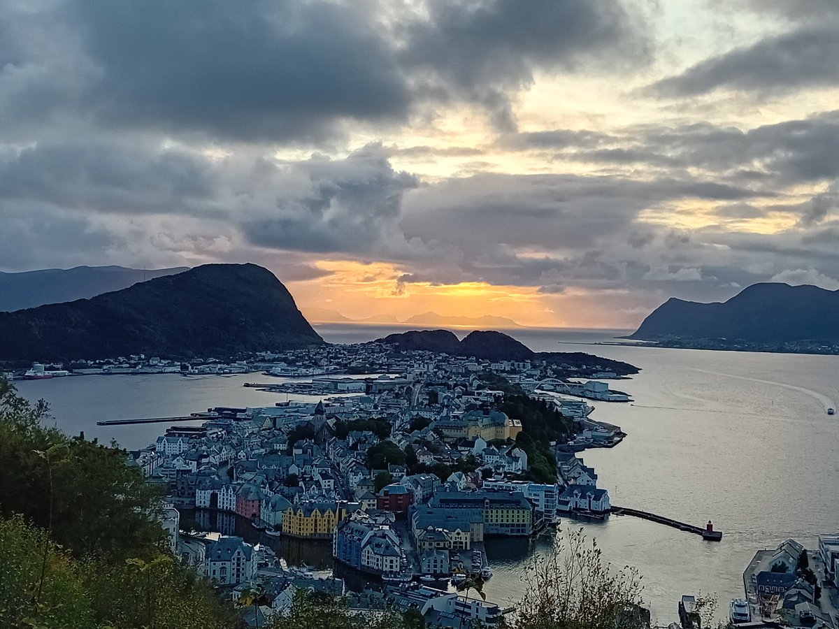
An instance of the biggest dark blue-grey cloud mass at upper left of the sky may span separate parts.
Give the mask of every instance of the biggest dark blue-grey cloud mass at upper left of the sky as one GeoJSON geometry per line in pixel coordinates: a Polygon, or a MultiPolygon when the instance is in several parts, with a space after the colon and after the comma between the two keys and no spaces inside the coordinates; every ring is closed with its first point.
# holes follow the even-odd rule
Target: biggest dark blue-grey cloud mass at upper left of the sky
{"type": "Polygon", "coordinates": [[[71,8],[117,125],[221,138],[321,138],[343,117],[405,116],[409,91],[361,4],[126,0],[71,8]]]}

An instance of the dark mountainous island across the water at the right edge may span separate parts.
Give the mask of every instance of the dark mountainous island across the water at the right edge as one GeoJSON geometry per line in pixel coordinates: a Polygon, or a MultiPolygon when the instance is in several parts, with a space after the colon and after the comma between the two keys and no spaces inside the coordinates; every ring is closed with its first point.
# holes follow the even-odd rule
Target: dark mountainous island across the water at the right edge
{"type": "Polygon", "coordinates": [[[757,283],[723,303],[670,298],[632,335],[659,346],[839,353],[839,291],[757,283]]]}

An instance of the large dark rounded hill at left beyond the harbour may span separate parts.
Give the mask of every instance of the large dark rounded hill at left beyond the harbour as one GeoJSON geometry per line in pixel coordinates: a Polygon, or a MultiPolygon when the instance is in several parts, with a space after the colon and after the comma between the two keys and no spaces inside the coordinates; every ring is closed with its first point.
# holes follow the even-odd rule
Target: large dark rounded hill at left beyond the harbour
{"type": "Polygon", "coordinates": [[[0,313],[0,360],[223,356],[320,345],[289,291],[255,264],[207,264],[67,304],[0,313]]]}

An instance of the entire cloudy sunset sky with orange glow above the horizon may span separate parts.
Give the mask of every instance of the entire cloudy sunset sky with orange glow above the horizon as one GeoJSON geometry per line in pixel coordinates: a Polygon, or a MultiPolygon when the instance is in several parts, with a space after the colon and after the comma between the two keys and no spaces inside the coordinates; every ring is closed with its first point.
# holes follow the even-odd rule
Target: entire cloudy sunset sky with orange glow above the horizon
{"type": "Polygon", "coordinates": [[[0,270],[633,328],[839,289],[835,0],[0,0],[0,270]]]}

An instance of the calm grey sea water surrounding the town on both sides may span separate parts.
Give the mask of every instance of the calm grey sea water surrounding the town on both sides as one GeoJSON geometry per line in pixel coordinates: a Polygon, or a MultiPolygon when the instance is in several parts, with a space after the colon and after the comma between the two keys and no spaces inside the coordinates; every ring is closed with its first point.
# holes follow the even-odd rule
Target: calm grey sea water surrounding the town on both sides
{"type": "MultiPolygon", "coordinates": [[[[330,342],[360,342],[399,331],[393,326],[323,325],[330,342]]],[[[676,618],[682,594],[716,592],[720,616],[743,595],[743,569],[755,551],[785,538],[816,545],[839,528],[839,356],[655,349],[597,345],[627,330],[506,330],[537,351],[586,351],[642,368],[618,388],[632,404],[595,403],[593,418],[618,424],[627,439],[612,450],[584,452],[612,502],[724,532],[708,543],[632,517],[584,526],[613,565],[643,575],[654,618],[676,618]]],[[[457,332],[460,335],[460,332],[457,332]]],[[[464,332],[465,334],[465,332],[464,332]]],[[[71,377],[18,382],[27,398],[45,398],[69,434],[117,439],[136,448],[167,424],[103,428],[96,420],[188,414],[211,406],[260,406],[284,396],[242,387],[255,374],[181,377],[71,377]]],[[[494,576],[487,598],[518,600],[528,544],[487,543],[494,576]]]]}

